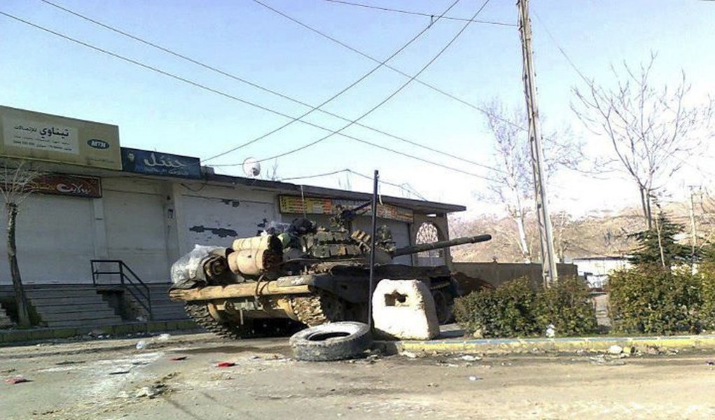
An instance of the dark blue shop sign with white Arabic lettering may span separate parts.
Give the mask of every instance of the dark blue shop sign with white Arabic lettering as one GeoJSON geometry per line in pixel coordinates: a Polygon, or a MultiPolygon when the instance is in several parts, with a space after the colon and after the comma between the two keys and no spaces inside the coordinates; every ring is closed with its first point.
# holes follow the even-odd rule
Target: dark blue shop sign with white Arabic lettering
{"type": "Polygon", "coordinates": [[[122,171],[200,179],[201,160],[159,151],[122,147],[122,171]]]}

